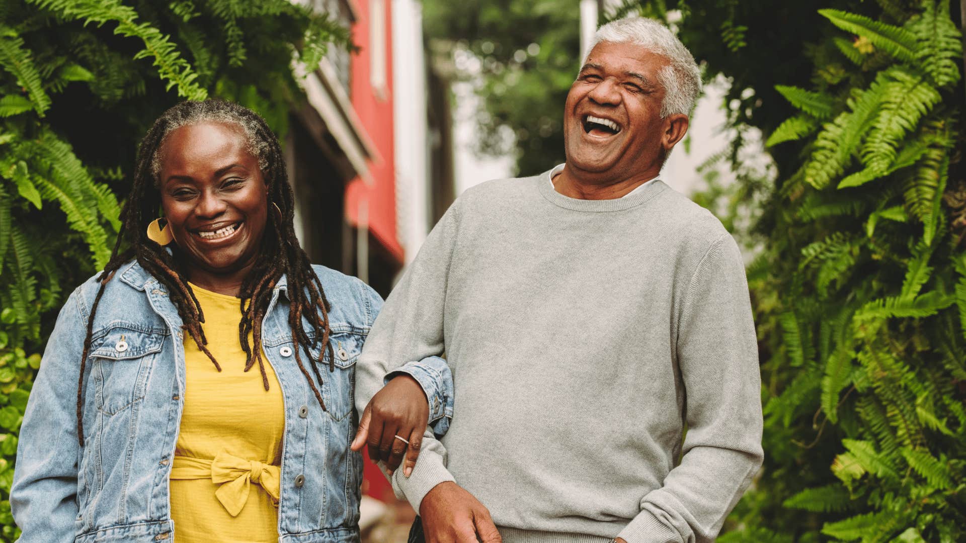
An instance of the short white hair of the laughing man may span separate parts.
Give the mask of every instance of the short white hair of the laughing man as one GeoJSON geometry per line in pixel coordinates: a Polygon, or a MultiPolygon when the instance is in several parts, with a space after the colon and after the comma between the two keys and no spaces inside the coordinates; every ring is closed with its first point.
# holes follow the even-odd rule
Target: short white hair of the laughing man
{"type": "Polygon", "coordinates": [[[670,64],[658,73],[658,81],[665,88],[661,102],[661,117],[675,113],[691,115],[697,94],[701,92],[701,71],[697,69],[691,51],[660,22],[631,16],[611,21],[597,29],[583,62],[587,62],[594,45],[601,42],[634,43],[653,53],[667,57],[670,64]]]}

